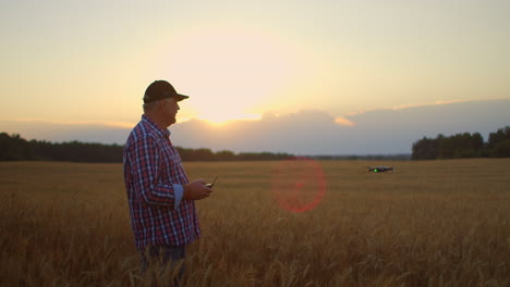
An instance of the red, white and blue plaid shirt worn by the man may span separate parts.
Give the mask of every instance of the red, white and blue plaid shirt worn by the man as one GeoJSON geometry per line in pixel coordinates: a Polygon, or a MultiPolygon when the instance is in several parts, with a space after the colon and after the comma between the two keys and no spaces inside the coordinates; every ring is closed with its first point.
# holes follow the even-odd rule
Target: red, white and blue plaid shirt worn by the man
{"type": "Polygon", "coordinates": [[[124,182],[136,247],[183,246],[201,237],[193,200],[182,199],[189,183],[181,157],[147,116],[133,128],[124,146],[124,182]]]}

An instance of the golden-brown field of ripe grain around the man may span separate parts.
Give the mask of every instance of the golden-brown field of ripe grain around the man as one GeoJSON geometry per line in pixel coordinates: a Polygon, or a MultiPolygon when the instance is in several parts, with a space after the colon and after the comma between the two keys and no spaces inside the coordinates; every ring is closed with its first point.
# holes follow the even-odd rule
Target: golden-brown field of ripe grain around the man
{"type": "MultiPolygon", "coordinates": [[[[326,192],[301,213],[275,200],[278,164],[185,163],[190,178],[219,177],[197,202],[183,286],[510,285],[510,160],[319,162],[326,192]]],[[[163,286],[171,271],[139,274],[122,176],[0,163],[0,285],[163,286]]]]}

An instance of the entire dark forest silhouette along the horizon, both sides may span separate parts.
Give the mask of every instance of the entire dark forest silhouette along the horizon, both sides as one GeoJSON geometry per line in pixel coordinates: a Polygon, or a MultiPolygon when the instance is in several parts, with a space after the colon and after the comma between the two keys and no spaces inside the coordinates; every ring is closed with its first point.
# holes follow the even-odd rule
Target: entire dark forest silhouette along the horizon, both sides
{"type": "MultiPolygon", "coordinates": [[[[277,161],[293,158],[290,153],[241,152],[230,150],[214,152],[207,148],[175,147],[183,161],[277,161]]],[[[26,140],[19,134],[0,133],[0,161],[69,161],[122,162],[123,146],[94,142],[50,142],[26,140]]],[[[510,158],[510,126],[490,133],[485,142],[479,133],[461,133],[453,136],[439,134],[424,137],[412,146],[412,154],[393,155],[319,155],[319,160],[436,160],[467,158],[510,158]]]]}

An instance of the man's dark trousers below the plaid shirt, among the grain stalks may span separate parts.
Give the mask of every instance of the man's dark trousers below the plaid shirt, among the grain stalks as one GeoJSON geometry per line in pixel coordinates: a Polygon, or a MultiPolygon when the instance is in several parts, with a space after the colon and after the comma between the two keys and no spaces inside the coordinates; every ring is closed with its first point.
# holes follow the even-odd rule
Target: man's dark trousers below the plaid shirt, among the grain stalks
{"type": "MultiPolygon", "coordinates": [[[[145,252],[142,253],[142,273],[153,266],[162,267],[163,270],[169,267],[173,273],[179,261],[183,260],[185,254],[185,246],[148,246],[145,252]]],[[[170,286],[179,286],[179,280],[183,275],[184,264],[181,264],[178,276],[170,282],[170,286]]]]}

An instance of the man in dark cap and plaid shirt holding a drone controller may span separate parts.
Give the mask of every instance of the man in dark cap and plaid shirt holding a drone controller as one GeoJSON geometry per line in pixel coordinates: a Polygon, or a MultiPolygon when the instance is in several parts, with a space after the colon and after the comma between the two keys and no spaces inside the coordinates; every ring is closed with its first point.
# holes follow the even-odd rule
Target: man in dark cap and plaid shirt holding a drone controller
{"type": "Polygon", "coordinates": [[[194,200],[212,192],[204,179],[187,179],[169,138],[167,128],[177,121],[179,101],[187,98],[166,80],[150,84],[144,96],[142,120],[124,147],[131,225],[144,271],[155,262],[173,266],[184,259],[185,246],[201,237],[194,200]]]}

